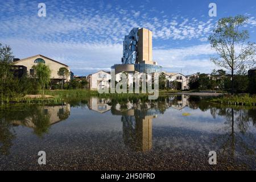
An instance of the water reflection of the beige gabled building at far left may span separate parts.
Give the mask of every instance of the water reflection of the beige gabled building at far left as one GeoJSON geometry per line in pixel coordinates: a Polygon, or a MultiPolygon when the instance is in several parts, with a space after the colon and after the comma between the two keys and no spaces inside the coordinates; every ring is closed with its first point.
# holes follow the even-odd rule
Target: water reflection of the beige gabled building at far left
{"type": "Polygon", "coordinates": [[[35,115],[40,114],[48,115],[48,123],[49,125],[54,125],[57,122],[63,121],[67,119],[70,114],[70,105],[59,105],[59,106],[38,106],[38,113],[34,113],[32,116],[26,117],[23,121],[14,120],[13,125],[23,125],[26,127],[35,128],[35,115]]]}

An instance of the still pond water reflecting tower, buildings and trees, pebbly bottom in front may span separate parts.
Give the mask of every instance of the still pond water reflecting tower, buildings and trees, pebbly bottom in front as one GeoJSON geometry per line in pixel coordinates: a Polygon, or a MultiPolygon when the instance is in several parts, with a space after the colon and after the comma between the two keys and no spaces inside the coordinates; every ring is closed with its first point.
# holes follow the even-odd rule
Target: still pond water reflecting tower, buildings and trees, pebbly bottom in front
{"type": "Polygon", "coordinates": [[[1,170],[255,170],[255,142],[255,107],[195,96],[0,107],[1,170]]]}

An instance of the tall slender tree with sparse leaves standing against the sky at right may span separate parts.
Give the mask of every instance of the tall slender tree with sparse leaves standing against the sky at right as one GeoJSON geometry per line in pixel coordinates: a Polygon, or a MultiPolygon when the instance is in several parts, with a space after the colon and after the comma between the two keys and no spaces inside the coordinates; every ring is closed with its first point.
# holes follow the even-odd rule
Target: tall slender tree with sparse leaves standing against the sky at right
{"type": "Polygon", "coordinates": [[[243,15],[221,18],[208,38],[219,56],[211,58],[213,63],[231,72],[232,94],[234,93],[234,73],[241,73],[255,63],[256,47],[254,43],[247,41],[249,32],[244,29],[247,20],[248,18],[243,15]]]}

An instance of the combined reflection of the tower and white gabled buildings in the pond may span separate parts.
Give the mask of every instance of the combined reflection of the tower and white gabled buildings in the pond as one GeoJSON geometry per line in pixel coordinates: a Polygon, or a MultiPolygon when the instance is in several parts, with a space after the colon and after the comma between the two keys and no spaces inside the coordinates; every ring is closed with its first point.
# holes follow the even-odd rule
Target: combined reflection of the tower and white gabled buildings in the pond
{"type": "Polygon", "coordinates": [[[188,98],[189,96],[184,95],[166,97],[163,101],[155,103],[154,107],[152,106],[154,103],[151,101],[139,101],[137,104],[127,101],[110,106],[110,99],[91,97],[88,107],[99,113],[111,110],[113,115],[122,115],[125,145],[134,151],[148,151],[152,148],[152,119],[161,113],[161,109],[172,107],[181,110],[189,106],[188,98]]]}

